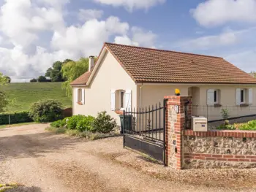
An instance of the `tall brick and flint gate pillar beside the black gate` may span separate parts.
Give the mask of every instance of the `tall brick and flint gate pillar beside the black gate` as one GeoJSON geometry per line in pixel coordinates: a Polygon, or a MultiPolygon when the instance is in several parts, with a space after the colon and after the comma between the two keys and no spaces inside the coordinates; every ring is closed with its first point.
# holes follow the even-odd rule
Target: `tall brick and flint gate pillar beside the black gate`
{"type": "Polygon", "coordinates": [[[165,163],[174,169],[182,169],[182,130],[185,129],[185,106],[187,128],[192,114],[191,96],[165,96],[165,163]]]}

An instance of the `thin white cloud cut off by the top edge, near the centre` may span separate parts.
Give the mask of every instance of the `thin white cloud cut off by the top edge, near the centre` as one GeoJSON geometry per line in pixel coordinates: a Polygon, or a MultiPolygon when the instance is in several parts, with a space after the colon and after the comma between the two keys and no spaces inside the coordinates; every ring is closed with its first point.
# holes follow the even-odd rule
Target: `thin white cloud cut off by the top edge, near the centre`
{"type": "Polygon", "coordinates": [[[101,4],[113,5],[114,7],[125,7],[130,12],[133,9],[149,9],[157,4],[165,3],[165,0],[94,0],[101,4]]]}

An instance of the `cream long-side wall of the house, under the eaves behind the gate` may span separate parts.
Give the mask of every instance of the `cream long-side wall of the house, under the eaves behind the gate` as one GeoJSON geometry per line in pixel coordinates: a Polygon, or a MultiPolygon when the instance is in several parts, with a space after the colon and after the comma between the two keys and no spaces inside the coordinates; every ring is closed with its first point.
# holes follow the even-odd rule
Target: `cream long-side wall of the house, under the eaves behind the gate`
{"type": "Polygon", "coordinates": [[[164,96],[171,96],[175,89],[181,90],[181,96],[193,96],[193,115],[208,117],[208,120],[222,119],[221,110],[227,109],[230,118],[256,114],[256,86],[244,85],[138,85],[138,104],[148,107],[162,103],[164,96]],[[142,87],[142,88],[140,88],[142,87]],[[191,87],[193,87],[191,89],[191,87]],[[253,88],[253,104],[249,107],[236,106],[236,88],[253,88]],[[207,106],[207,90],[219,89],[219,99],[222,107],[207,106]],[[141,102],[140,102],[141,101],[141,102]]]}

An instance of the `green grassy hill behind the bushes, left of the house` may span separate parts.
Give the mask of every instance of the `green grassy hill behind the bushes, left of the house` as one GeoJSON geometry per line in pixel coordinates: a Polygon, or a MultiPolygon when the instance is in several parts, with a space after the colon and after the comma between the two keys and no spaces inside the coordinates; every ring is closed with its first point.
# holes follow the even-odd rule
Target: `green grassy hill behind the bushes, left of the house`
{"type": "Polygon", "coordinates": [[[9,83],[0,89],[9,99],[16,99],[14,106],[8,107],[8,112],[29,110],[32,103],[41,99],[56,99],[64,107],[72,107],[72,101],[61,90],[61,82],[9,83]]]}

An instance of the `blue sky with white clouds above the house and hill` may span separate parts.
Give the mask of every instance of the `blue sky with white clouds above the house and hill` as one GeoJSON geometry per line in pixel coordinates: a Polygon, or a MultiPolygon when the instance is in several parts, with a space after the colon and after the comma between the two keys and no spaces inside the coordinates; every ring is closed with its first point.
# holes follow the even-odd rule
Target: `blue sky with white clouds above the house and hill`
{"type": "Polygon", "coordinates": [[[0,0],[0,72],[45,74],[104,42],[225,58],[256,71],[256,0],[0,0]]]}

